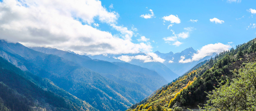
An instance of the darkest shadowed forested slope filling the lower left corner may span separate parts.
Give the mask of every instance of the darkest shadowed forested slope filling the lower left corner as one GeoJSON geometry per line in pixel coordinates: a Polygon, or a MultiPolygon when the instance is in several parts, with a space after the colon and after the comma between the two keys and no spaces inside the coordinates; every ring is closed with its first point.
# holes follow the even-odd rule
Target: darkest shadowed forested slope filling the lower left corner
{"type": "Polygon", "coordinates": [[[1,111],[84,111],[97,109],[29,72],[23,72],[0,57],[1,111]]]}

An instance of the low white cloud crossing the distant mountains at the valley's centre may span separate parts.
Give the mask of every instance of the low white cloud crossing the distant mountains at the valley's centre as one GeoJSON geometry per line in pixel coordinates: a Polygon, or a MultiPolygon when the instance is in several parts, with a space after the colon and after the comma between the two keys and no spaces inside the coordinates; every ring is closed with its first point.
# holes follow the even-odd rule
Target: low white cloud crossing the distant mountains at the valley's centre
{"type": "Polygon", "coordinates": [[[117,57],[117,59],[130,62],[131,60],[142,60],[144,63],[147,62],[160,62],[163,63],[165,60],[160,58],[157,54],[149,52],[146,55],[136,55],[136,56],[129,56],[129,55],[122,55],[117,57]]]}

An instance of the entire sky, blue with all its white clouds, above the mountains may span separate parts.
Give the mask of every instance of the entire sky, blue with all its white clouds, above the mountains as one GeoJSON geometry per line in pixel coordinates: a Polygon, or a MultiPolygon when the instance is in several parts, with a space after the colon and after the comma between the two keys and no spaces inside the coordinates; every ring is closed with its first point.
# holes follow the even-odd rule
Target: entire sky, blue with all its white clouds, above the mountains
{"type": "Polygon", "coordinates": [[[255,4],[255,0],[0,0],[0,39],[84,55],[152,55],[193,47],[203,57],[256,37],[255,4]]]}

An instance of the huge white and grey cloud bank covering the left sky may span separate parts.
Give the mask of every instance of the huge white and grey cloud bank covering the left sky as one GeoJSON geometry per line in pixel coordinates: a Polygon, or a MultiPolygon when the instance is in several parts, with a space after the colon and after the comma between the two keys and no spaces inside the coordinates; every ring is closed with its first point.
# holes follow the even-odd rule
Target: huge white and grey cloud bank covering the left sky
{"type": "Polygon", "coordinates": [[[3,0],[0,10],[0,39],[28,47],[54,47],[89,55],[152,51],[150,44],[132,43],[133,31],[117,25],[119,14],[107,11],[98,0],[3,0]],[[94,24],[95,19],[121,34],[92,27],[99,25],[94,24]]]}

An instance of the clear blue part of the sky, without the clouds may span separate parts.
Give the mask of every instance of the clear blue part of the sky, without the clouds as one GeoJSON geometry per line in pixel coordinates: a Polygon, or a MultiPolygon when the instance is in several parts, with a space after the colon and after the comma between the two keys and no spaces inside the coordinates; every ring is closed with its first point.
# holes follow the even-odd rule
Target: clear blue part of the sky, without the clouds
{"type": "MultiPolygon", "coordinates": [[[[145,36],[151,41],[154,51],[168,53],[169,51],[180,52],[188,47],[193,47],[195,50],[200,49],[204,45],[214,43],[231,43],[232,46],[245,43],[256,37],[255,28],[251,28],[250,23],[256,23],[256,15],[252,14],[249,9],[255,9],[256,1],[243,0],[229,2],[226,0],[171,0],[171,1],[137,1],[137,0],[103,0],[102,5],[110,11],[118,12],[120,18],[118,23],[127,28],[137,28],[140,36],[145,36]],[[113,4],[113,9],[109,6],[113,4]],[[147,7],[147,8],[146,8],[147,7]],[[142,14],[151,14],[152,10],[154,17],[151,19],[141,18],[142,14]],[[173,27],[167,29],[170,22],[163,25],[163,17],[169,15],[177,15],[181,23],[173,23],[173,27]],[[216,24],[210,22],[209,19],[217,18],[223,20],[224,23],[216,24]],[[198,20],[190,22],[190,19],[198,20]],[[250,28],[248,28],[250,26],[250,28]],[[173,31],[176,34],[186,32],[184,28],[194,27],[190,32],[189,37],[180,39],[180,46],[170,45],[165,43],[164,37],[173,36],[173,31]],[[152,40],[155,41],[152,42],[152,40]]],[[[114,32],[114,29],[105,29],[106,31],[114,32]]],[[[133,42],[138,42],[140,36],[133,37],[133,42]]]]}

